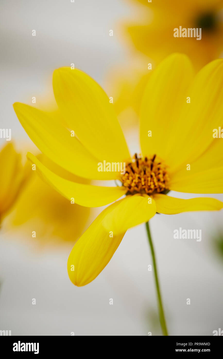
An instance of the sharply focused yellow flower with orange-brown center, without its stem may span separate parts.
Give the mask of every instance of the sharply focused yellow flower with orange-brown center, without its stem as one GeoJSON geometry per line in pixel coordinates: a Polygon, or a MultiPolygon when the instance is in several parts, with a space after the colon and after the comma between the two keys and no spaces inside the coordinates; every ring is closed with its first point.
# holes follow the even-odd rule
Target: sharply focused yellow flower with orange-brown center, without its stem
{"type": "Polygon", "coordinates": [[[103,187],[68,181],[28,154],[44,181],[68,200],[74,197],[77,204],[87,207],[115,201],[94,220],[69,255],[68,274],[75,285],[96,278],[126,230],[147,222],[156,212],[223,207],[214,198],[185,200],[165,194],[168,190],[223,192],[222,140],[213,137],[213,129],[223,122],[222,84],[223,60],[211,62],[193,79],[188,57],[175,54],[165,59],[146,85],[140,115],[142,154],[133,158],[107,95],[82,71],[68,67],[54,71],[54,95],[63,114],[60,122],[28,105],[14,104],[28,135],[55,163],[80,177],[119,179],[123,184],[103,187]],[[71,138],[68,129],[75,130],[78,138],[71,138]],[[104,161],[107,171],[99,172],[104,161]],[[126,163],[126,171],[109,171],[112,163],[126,163]],[[116,201],[123,195],[126,197],[116,201]]]}

